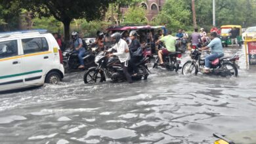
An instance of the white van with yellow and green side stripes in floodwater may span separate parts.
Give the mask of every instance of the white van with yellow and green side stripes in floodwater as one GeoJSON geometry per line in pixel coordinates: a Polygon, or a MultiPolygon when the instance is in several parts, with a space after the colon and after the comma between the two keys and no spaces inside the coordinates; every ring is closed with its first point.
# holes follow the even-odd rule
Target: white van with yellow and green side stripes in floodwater
{"type": "Polygon", "coordinates": [[[0,91],[56,84],[64,77],[62,61],[46,30],[0,33],[0,91]]]}

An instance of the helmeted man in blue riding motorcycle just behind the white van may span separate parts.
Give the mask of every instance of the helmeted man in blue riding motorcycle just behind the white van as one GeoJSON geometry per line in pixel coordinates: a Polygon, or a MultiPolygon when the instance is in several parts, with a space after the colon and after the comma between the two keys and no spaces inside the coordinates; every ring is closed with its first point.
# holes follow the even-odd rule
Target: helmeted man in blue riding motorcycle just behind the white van
{"type": "Polygon", "coordinates": [[[78,58],[79,58],[79,69],[85,68],[85,63],[83,62],[83,56],[85,56],[85,48],[83,47],[83,41],[80,37],[78,37],[77,32],[72,33],[72,49],[74,49],[78,53],[78,58]]]}

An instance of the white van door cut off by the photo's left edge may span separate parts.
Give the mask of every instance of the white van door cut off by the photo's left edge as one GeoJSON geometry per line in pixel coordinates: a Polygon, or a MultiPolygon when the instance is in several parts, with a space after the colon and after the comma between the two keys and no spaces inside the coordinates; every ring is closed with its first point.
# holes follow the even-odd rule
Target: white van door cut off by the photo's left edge
{"type": "Polygon", "coordinates": [[[23,86],[22,56],[17,40],[0,42],[0,90],[23,86]]]}

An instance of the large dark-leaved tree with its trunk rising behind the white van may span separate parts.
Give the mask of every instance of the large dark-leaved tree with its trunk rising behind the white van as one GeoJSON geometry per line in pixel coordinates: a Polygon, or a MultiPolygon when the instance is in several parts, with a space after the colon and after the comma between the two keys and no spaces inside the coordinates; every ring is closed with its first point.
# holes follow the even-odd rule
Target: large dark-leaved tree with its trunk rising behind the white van
{"type": "Polygon", "coordinates": [[[95,20],[102,18],[111,1],[108,0],[3,0],[5,3],[18,1],[21,7],[39,17],[54,16],[64,24],[65,41],[70,39],[70,22],[73,19],[86,18],[95,20]]]}

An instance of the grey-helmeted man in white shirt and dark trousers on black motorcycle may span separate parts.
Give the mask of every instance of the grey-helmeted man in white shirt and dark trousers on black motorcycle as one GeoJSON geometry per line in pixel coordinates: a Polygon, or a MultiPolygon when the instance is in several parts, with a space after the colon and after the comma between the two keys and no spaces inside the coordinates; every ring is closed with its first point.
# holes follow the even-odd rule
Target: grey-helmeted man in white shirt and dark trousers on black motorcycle
{"type": "Polygon", "coordinates": [[[131,75],[128,71],[128,62],[131,59],[130,53],[129,53],[129,47],[125,40],[121,39],[120,33],[114,33],[111,35],[113,42],[115,45],[108,50],[108,52],[112,52],[112,50],[117,50],[117,52],[114,52],[110,54],[109,56],[118,56],[119,61],[121,62],[123,66],[123,73],[125,74],[125,77],[129,83],[132,83],[131,75]]]}

